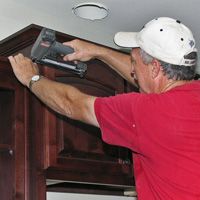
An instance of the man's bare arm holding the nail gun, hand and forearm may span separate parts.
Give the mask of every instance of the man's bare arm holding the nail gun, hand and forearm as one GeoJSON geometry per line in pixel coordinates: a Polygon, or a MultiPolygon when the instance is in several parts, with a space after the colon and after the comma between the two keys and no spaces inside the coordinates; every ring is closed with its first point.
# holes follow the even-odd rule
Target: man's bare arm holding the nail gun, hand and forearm
{"type": "Polygon", "coordinates": [[[131,76],[132,67],[130,55],[77,39],[65,42],[64,45],[70,46],[75,50],[74,53],[66,55],[64,60],[88,61],[97,58],[108,64],[128,82],[136,85],[131,76]]]}

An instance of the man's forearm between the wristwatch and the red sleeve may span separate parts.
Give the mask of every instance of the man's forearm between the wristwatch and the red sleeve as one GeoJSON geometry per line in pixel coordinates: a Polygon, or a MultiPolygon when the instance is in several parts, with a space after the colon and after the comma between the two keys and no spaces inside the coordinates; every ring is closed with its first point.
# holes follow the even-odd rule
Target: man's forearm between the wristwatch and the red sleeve
{"type": "Polygon", "coordinates": [[[98,126],[93,110],[95,97],[45,77],[34,83],[31,91],[54,111],[71,119],[98,126]]]}

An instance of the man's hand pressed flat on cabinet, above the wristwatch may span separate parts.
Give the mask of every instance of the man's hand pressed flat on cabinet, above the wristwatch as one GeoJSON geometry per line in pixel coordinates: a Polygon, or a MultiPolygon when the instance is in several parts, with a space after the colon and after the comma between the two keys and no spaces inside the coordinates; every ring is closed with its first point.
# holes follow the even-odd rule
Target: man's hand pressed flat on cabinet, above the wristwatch
{"type": "Polygon", "coordinates": [[[39,74],[37,64],[33,63],[31,59],[24,57],[22,54],[8,57],[13,72],[17,79],[25,86],[29,86],[32,76],[39,74]]]}

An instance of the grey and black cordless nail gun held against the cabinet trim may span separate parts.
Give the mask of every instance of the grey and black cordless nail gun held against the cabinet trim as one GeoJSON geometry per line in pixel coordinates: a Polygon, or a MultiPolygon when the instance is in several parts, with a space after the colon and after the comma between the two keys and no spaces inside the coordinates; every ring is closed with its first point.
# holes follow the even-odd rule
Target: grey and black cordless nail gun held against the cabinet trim
{"type": "Polygon", "coordinates": [[[33,62],[65,69],[83,77],[87,71],[87,65],[83,62],[68,62],[62,56],[71,54],[74,49],[56,41],[55,31],[43,28],[31,49],[33,62]]]}

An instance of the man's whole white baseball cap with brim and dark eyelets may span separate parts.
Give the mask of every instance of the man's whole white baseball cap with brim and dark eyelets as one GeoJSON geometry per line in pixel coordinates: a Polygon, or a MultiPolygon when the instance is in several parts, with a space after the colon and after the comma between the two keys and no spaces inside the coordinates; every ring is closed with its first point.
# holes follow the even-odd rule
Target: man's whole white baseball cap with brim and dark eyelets
{"type": "Polygon", "coordinates": [[[140,47],[152,57],[170,64],[196,64],[196,59],[184,58],[197,52],[192,32],[179,20],[169,17],[151,20],[140,32],[118,32],[114,41],[121,47],[140,47]]]}

